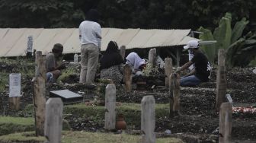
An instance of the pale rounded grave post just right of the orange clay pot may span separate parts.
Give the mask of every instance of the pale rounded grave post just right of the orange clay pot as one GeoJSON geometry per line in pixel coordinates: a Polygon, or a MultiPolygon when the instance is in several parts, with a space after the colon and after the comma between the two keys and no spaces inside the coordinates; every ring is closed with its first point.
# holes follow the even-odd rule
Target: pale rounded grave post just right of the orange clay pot
{"type": "Polygon", "coordinates": [[[155,98],[145,96],[141,104],[142,143],[155,143],[155,98]]]}

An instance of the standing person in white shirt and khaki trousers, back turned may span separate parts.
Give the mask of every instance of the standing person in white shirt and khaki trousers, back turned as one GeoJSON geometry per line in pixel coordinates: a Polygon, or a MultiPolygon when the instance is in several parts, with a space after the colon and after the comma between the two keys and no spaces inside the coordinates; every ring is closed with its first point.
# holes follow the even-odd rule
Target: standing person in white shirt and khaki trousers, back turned
{"type": "Polygon", "coordinates": [[[79,39],[81,43],[81,73],[80,83],[94,82],[98,56],[101,49],[101,25],[98,24],[99,14],[95,9],[88,11],[79,26],[79,39]]]}

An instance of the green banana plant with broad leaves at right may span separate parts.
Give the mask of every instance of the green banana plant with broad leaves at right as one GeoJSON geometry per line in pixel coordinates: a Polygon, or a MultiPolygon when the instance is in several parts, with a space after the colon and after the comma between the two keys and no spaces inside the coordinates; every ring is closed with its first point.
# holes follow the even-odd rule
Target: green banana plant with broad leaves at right
{"type": "Polygon", "coordinates": [[[248,24],[246,18],[237,21],[235,26],[231,27],[232,14],[226,13],[219,21],[219,27],[216,27],[213,34],[210,30],[200,27],[203,34],[201,40],[216,40],[217,43],[211,46],[202,46],[203,51],[211,62],[217,58],[218,49],[226,50],[226,65],[229,67],[245,66],[256,56],[256,34],[249,32],[245,37],[242,33],[248,24]]]}

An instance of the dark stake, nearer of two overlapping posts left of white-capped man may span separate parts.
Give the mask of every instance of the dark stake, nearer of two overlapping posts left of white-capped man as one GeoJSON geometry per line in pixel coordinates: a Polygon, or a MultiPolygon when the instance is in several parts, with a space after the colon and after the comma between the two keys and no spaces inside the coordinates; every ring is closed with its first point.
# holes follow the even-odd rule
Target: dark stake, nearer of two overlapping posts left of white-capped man
{"type": "Polygon", "coordinates": [[[180,113],[180,76],[171,74],[169,80],[169,93],[170,93],[170,116],[180,113]]]}

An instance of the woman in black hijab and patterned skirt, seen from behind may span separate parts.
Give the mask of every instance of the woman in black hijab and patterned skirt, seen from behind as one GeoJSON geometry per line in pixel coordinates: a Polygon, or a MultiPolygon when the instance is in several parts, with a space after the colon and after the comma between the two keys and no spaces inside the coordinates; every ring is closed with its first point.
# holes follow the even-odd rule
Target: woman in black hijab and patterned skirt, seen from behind
{"type": "Polygon", "coordinates": [[[120,84],[123,79],[123,57],[120,55],[116,42],[108,43],[100,63],[101,78],[110,79],[114,84],[120,84]]]}

